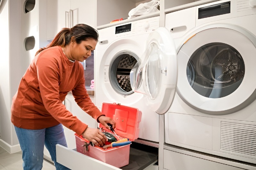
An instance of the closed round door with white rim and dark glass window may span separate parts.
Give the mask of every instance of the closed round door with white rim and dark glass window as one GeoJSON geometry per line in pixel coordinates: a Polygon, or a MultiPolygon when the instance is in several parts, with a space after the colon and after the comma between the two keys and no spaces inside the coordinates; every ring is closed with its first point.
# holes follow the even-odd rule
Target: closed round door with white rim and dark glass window
{"type": "Polygon", "coordinates": [[[206,114],[234,113],[256,98],[256,38],[240,26],[209,25],[178,52],[179,96],[206,114]]]}

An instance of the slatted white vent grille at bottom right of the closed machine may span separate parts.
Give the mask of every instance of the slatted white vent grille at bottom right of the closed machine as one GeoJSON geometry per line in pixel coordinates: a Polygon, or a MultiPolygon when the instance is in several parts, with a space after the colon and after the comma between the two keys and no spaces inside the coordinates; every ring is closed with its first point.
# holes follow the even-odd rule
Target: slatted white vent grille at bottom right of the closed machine
{"type": "Polygon", "coordinates": [[[256,156],[256,124],[221,122],[220,149],[234,155],[256,156]]]}

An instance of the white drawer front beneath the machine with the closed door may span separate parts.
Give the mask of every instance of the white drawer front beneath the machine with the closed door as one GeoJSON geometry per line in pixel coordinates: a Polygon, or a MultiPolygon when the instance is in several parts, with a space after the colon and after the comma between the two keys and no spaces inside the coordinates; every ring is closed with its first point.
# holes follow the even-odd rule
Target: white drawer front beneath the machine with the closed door
{"type": "Polygon", "coordinates": [[[180,147],[164,146],[164,170],[255,170],[254,165],[240,161],[213,157],[212,155],[191,152],[180,147]]]}

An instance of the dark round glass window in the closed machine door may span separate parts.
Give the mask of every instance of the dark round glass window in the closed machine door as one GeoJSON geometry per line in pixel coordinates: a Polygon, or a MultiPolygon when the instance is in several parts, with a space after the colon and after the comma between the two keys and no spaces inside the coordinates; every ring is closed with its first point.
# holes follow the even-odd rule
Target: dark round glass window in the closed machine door
{"type": "Polygon", "coordinates": [[[214,42],[198,48],[187,64],[190,86],[209,98],[234,92],[244,78],[244,60],[232,46],[214,42]]]}

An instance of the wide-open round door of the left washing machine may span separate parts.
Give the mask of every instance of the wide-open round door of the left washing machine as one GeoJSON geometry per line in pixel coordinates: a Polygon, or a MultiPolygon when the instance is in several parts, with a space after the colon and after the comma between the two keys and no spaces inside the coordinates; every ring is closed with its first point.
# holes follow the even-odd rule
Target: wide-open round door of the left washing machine
{"type": "Polygon", "coordinates": [[[166,28],[159,27],[149,35],[140,59],[143,61],[130,72],[132,90],[147,98],[148,107],[164,114],[172,104],[178,75],[176,48],[166,28]]]}

